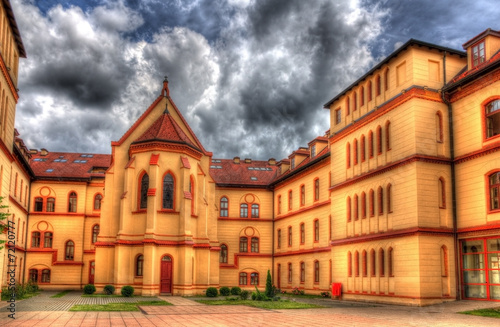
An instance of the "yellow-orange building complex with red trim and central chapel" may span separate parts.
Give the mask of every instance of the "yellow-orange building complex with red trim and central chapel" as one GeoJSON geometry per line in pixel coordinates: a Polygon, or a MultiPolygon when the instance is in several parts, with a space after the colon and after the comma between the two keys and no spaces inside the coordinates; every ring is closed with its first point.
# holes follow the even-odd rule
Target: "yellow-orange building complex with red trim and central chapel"
{"type": "Polygon", "coordinates": [[[280,161],[214,158],[166,78],[103,155],[26,149],[14,130],[25,53],[2,10],[0,192],[16,228],[3,285],[13,248],[15,281],[44,289],[191,295],[263,288],[269,270],[281,290],[336,283],[349,300],[500,301],[499,32],[465,51],[408,41],[280,161]]]}

